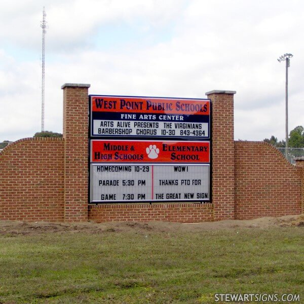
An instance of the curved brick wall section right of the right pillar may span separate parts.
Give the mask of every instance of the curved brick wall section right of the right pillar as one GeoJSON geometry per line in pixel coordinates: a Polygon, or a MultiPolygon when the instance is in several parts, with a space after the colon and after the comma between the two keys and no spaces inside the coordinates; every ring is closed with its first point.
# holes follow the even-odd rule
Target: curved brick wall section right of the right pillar
{"type": "Polygon", "coordinates": [[[301,168],[272,145],[235,142],[237,219],[301,213],[301,168]]]}

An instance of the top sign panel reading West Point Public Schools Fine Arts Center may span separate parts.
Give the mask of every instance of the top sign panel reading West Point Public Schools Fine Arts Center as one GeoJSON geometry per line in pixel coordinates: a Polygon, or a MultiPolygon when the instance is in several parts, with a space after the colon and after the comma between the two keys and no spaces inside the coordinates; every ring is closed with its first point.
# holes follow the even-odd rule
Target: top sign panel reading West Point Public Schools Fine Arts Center
{"type": "Polygon", "coordinates": [[[90,96],[92,137],[210,138],[210,100],[90,96]]]}

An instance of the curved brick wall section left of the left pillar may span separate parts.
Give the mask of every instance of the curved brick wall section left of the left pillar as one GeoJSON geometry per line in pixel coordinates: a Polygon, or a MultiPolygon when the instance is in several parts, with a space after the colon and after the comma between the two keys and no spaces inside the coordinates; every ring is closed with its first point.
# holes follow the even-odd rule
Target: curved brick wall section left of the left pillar
{"type": "Polygon", "coordinates": [[[62,138],[25,138],[0,153],[0,219],[63,221],[62,138]]]}

